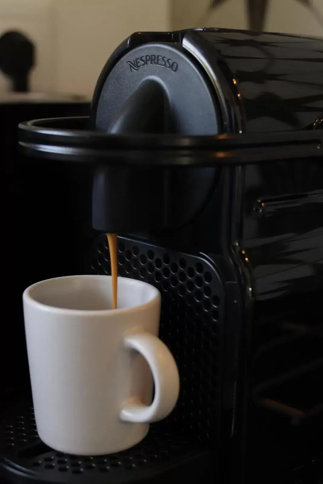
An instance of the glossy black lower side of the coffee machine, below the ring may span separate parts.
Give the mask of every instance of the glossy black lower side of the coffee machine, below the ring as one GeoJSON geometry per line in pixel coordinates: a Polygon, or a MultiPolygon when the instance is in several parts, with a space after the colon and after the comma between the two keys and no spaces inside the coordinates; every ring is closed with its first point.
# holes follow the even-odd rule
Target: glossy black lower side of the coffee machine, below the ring
{"type": "Polygon", "coordinates": [[[270,482],[273,460],[283,474],[322,450],[322,163],[246,166],[243,220],[240,257],[253,295],[248,458],[271,469],[270,482]]]}

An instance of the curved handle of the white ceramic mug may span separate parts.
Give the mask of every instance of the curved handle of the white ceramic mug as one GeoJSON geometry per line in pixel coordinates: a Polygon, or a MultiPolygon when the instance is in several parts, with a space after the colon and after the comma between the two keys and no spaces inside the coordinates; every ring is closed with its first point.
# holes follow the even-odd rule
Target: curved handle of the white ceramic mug
{"type": "Polygon", "coordinates": [[[149,364],[154,377],[155,394],[150,406],[137,399],[129,401],[121,410],[121,420],[135,423],[162,420],[175,407],[180,390],[180,378],[173,355],[157,336],[149,333],[126,336],[124,345],[138,351],[149,364]]]}

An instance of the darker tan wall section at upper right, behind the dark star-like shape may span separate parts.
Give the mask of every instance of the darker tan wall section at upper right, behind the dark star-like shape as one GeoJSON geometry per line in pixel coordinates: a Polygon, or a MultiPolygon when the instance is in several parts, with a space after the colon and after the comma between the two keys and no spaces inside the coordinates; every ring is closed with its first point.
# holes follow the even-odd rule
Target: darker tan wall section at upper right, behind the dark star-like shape
{"type": "MultiPolygon", "coordinates": [[[[172,28],[220,27],[247,29],[245,0],[226,0],[210,10],[211,0],[172,0],[172,28]]],[[[323,0],[310,11],[299,0],[268,0],[265,29],[323,37],[323,0]]]]}

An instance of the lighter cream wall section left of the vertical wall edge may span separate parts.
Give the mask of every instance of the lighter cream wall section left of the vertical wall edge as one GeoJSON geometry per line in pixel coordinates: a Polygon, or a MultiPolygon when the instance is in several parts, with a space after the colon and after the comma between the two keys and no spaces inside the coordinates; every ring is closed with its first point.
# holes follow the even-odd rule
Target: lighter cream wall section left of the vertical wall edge
{"type": "MultiPolygon", "coordinates": [[[[169,30],[170,0],[0,0],[0,35],[20,30],[36,44],[32,91],[92,97],[113,50],[138,30],[169,30]]],[[[0,92],[7,91],[0,72],[0,92]]]]}

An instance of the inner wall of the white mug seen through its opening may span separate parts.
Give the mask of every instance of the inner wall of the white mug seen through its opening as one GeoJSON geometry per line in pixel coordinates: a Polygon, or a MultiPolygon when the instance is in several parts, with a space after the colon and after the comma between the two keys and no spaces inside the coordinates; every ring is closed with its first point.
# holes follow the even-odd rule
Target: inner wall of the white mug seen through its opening
{"type": "MultiPolygon", "coordinates": [[[[129,309],[153,301],[158,290],[132,279],[118,278],[118,309],[129,309]]],[[[112,280],[110,276],[66,276],[48,279],[29,289],[35,302],[55,308],[77,311],[112,310],[112,280]]]]}

